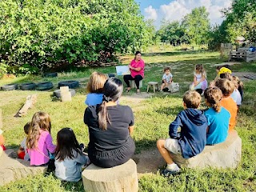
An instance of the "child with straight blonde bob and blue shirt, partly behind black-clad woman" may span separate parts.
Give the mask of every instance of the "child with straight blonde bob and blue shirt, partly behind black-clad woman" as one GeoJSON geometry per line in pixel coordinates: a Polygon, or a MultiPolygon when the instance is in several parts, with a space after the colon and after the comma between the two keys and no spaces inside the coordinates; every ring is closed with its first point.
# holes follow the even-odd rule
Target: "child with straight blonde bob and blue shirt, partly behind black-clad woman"
{"type": "Polygon", "coordinates": [[[90,75],[87,84],[87,92],[89,94],[87,94],[85,101],[87,106],[95,106],[102,103],[102,90],[106,79],[106,75],[99,72],[94,72],[90,75]]]}

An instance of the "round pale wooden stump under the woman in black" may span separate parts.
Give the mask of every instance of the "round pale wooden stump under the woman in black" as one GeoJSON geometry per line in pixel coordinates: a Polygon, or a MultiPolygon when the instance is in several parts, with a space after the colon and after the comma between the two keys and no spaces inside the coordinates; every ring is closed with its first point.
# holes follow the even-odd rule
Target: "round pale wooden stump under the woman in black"
{"type": "Polygon", "coordinates": [[[82,171],[82,182],[88,192],[135,192],[138,191],[137,166],[132,159],[112,168],[91,164],[82,171]]]}

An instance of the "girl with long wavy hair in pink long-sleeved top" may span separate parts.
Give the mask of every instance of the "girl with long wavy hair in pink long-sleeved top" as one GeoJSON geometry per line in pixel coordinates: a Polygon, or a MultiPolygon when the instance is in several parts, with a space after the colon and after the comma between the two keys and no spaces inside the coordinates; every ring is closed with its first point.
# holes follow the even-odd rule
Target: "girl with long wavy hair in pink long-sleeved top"
{"type": "Polygon", "coordinates": [[[50,135],[50,116],[45,112],[39,111],[34,114],[26,146],[30,155],[31,166],[43,166],[49,162],[49,153],[55,152],[56,146],[50,135]]]}

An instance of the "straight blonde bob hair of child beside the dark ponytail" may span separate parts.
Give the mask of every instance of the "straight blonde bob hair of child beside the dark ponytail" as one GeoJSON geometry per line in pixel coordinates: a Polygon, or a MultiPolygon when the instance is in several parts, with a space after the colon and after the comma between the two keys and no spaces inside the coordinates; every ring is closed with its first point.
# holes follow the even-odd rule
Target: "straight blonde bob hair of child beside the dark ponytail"
{"type": "Polygon", "coordinates": [[[87,84],[87,92],[101,94],[106,79],[105,74],[94,71],[94,73],[90,75],[89,82],[87,84]]]}

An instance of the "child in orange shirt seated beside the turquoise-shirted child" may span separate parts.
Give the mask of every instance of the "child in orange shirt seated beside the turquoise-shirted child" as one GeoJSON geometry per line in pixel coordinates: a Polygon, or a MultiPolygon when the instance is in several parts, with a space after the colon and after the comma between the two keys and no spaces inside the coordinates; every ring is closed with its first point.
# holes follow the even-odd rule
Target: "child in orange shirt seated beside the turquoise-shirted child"
{"type": "Polygon", "coordinates": [[[230,123],[229,123],[229,132],[234,130],[234,126],[236,124],[236,117],[238,114],[238,106],[234,99],[230,97],[230,94],[234,91],[234,82],[226,78],[219,78],[215,82],[215,86],[218,86],[220,90],[222,90],[222,101],[221,106],[223,106],[226,110],[230,112],[230,123]]]}

